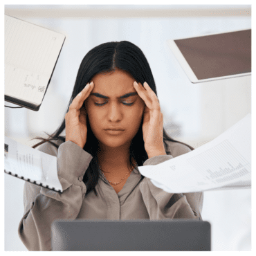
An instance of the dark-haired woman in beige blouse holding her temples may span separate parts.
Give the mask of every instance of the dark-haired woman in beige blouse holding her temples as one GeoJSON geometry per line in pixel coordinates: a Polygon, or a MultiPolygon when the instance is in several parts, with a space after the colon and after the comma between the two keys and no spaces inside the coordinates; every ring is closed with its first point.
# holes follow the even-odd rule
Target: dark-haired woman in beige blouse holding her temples
{"type": "Polygon", "coordinates": [[[28,250],[51,250],[55,219],[201,220],[203,193],[167,193],[138,170],[193,148],[167,136],[152,71],[130,42],[86,54],[62,125],[38,145],[57,156],[64,191],[25,183],[19,236],[28,250]]]}

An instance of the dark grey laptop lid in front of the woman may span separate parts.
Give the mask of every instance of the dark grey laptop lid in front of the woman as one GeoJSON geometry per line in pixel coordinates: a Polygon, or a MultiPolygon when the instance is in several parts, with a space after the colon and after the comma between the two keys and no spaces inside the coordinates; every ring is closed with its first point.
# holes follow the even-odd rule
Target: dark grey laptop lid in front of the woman
{"type": "Polygon", "coordinates": [[[208,221],[55,220],[52,250],[210,250],[208,221]]]}

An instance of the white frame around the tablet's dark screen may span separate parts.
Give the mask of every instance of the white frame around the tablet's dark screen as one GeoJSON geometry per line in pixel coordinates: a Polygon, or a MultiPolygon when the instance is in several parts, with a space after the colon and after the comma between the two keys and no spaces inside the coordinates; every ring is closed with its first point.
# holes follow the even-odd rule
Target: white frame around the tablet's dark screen
{"type": "Polygon", "coordinates": [[[196,35],[196,36],[193,36],[193,37],[182,37],[182,38],[176,38],[176,39],[168,39],[167,40],[167,45],[170,47],[171,52],[176,57],[176,60],[181,65],[181,68],[183,69],[183,71],[185,71],[185,74],[188,76],[189,80],[193,84],[200,83],[200,82],[214,81],[214,80],[223,80],[223,79],[232,78],[232,77],[242,77],[242,76],[246,76],[246,75],[251,75],[251,72],[237,74],[237,75],[226,75],[226,76],[223,76],[223,77],[213,77],[213,78],[198,80],[196,75],[194,74],[194,71],[192,71],[192,68],[190,68],[190,65],[185,60],[185,57],[183,56],[183,54],[179,50],[179,47],[176,45],[174,40],[189,39],[189,38],[194,38],[194,37],[205,37],[205,36],[208,36],[208,35],[226,34],[226,33],[249,30],[249,29],[251,30],[251,28],[246,28],[246,29],[242,29],[242,30],[241,29],[239,29],[239,30],[230,30],[230,31],[225,31],[225,32],[221,32],[221,33],[209,33],[209,34],[204,34],[204,35],[196,35]]]}

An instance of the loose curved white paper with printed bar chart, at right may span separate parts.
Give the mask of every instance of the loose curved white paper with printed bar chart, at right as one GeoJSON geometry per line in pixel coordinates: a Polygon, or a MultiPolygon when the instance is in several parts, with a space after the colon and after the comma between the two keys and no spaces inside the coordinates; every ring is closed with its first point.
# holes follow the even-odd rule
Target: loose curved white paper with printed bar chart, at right
{"type": "Polygon", "coordinates": [[[143,176],[170,193],[251,188],[251,115],[205,145],[158,165],[143,176]]]}

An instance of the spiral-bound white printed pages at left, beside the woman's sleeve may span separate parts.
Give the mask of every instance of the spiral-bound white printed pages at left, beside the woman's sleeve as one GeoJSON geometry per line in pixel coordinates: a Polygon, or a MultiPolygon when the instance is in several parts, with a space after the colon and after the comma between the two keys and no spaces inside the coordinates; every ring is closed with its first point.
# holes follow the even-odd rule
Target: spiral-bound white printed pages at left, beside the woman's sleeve
{"type": "Polygon", "coordinates": [[[5,136],[4,172],[24,181],[62,193],[57,176],[57,157],[5,136]]]}

